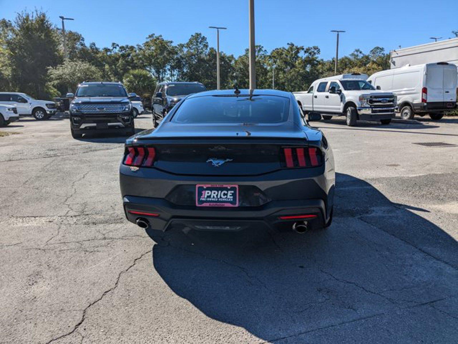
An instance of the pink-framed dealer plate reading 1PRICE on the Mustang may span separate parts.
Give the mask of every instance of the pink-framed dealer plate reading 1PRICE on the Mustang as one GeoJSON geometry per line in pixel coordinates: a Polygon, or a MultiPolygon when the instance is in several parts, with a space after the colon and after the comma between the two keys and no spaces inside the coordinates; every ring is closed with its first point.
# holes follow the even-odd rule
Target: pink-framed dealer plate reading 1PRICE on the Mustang
{"type": "Polygon", "coordinates": [[[197,184],[196,185],[196,206],[198,207],[238,207],[239,206],[239,186],[234,185],[234,184],[197,184]],[[227,191],[227,193],[224,194],[223,191],[227,191]],[[232,191],[235,194],[235,200],[233,199],[233,197],[223,197],[223,196],[230,195],[229,194],[230,191],[232,191]],[[210,192],[210,194],[208,194],[208,192],[210,192]]]}

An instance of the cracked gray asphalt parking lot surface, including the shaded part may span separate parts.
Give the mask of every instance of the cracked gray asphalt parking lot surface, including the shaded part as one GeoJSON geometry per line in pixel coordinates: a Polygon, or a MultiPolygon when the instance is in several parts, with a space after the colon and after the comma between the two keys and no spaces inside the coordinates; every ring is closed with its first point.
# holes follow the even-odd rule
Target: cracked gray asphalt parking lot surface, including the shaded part
{"type": "Polygon", "coordinates": [[[124,218],[123,138],[2,128],[0,342],[457,343],[458,118],[311,124],[336,160],[329,229],[153,239],[124,218]]]}

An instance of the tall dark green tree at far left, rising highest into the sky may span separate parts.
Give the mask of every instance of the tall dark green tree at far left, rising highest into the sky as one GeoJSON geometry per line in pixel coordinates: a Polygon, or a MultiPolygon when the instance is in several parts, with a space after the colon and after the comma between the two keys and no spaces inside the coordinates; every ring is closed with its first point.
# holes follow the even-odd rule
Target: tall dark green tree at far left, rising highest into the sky
{"type": "Polygon", "coordinates": [[[18,13],[5,45],[10,52],[11,83],[15,89],[46,97],[47,69],[61,61],[59,38],[46,14],[38,10],[18,13]]]}

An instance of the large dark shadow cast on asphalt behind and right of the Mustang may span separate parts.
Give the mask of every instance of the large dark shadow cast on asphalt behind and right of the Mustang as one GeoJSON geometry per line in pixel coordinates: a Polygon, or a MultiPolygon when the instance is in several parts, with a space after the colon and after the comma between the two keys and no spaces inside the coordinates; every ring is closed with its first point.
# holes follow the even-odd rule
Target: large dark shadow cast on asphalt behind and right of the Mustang
{"type": "Polygon", "coordinates": [[[457,242],[371,184],[336,177],[327,230],[148,231],[152,268],[206,316],[268,342],[456,338],[457,242]]]}

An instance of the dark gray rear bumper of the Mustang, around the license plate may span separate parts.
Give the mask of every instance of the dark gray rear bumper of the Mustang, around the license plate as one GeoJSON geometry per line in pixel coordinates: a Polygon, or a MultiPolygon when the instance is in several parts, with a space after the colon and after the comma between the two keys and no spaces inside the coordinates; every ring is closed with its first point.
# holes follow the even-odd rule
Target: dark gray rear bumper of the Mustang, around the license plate
{"type": "Polygon", "coordinates": [[[133,172],[121,165],[120,186],[126,218],[133,223],[145,218],[160,231],[172,227],[224,231],[260,225],[276,227],[301,221],[280,216],[298,215],[314,215],[305,219],[314,228],[323,227],[331,215],[334,175],[327,175],[324,166],[225,178],[174,175],[154,168],[133,172]],[[254,199],[253,193],[240,194],[238,207],[198,207],[194,190],[196,184],[202,183],[237,184],[240,191],[255,188],[254,193],[261,195],[254,199]]]}

